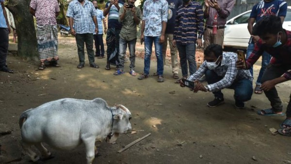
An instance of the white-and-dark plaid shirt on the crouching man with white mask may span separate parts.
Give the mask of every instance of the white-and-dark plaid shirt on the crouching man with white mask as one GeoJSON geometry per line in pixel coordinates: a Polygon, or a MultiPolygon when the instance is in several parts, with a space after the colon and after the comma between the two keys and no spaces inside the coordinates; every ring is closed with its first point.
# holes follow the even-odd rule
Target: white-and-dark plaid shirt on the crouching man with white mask
{"type": "MultiPolygon", "coordinates": [[[[210,92],[215,92],[229,87],[233,82],[240,81],[242,79],[248,79],[253,81],[253,77],[249,70],[237,69],[236,61],[238,60],[238,55],[233,52],[224,52],[221,65],[217,66],[213,71],[222,80],[215,82],[213,84],[207,85],[210,92]]],[[[201,78],[207,70],[206,61],[199,67],[199,69],[191,75],[188,80],[194,81],[195,79],[201,78]]]]}

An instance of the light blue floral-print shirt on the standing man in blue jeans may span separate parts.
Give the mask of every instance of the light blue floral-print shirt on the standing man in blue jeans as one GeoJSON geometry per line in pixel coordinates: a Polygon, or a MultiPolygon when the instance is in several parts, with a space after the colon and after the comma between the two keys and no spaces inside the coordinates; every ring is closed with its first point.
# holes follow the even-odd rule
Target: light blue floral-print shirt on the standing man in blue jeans
{"type": "Polygon", "coordinates": [[[168,21],[168,2],[166,0],[146,0],[143,20],[146,22],[145,36],[161,36],[162,22],[168,21]]]}

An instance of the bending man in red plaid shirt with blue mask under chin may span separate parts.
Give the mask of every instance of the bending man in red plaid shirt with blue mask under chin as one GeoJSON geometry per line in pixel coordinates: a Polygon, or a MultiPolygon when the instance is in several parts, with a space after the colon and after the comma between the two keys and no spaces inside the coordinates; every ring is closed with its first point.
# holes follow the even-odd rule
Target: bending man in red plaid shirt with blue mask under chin
{"type": "MultiPolygon", "coordinates": [[[[270,64],[262,76],[260,87],[271,102],[272,107],[258,111],[258,115],[283,116],[282,102],[278,97],[275,85],[291,80],[291,31],[282,28],[280,17],[265,16],[257,22],[252,33],[258,35],[260,39],[246,60],[246,69],[258,61],[263,51],[272,55],[270,64]]],[[[238,68],[243,68],[243,66],[242,61],[237,62],[238,68]]],[[[284,130],[279,131],[279,133],[291,136],[291,99],[287,106],[286,119],[280,127],[284,130]]]]}

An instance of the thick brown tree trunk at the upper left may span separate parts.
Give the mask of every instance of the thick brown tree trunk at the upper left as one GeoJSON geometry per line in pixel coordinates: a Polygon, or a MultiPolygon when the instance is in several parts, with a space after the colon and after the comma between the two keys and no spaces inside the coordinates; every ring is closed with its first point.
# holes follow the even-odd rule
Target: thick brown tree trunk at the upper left
{"type": "Polygon", "coordinates": [[[37,39],[29,4],[30,0],[9,0],[7,8],[14,16],[18,56],[38,60],[37,39]]]}

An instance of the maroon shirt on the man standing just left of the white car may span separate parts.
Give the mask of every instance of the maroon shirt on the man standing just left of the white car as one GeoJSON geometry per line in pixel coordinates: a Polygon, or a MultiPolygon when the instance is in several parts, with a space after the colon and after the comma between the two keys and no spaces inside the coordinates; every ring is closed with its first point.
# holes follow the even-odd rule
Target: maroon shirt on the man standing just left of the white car
{"type": "Polygon", "coordinates": [[[217,25],[225,25],[227,17],[229,16],[234,4],[235,0],[216,0],[218,5],[221,7],[221,11],[217,12],[216,9],[210,7],[209,15],[204,15],[206,20],[206,25],[212,26],[213,19],[215,14],[217,14],[217,25]]]}

